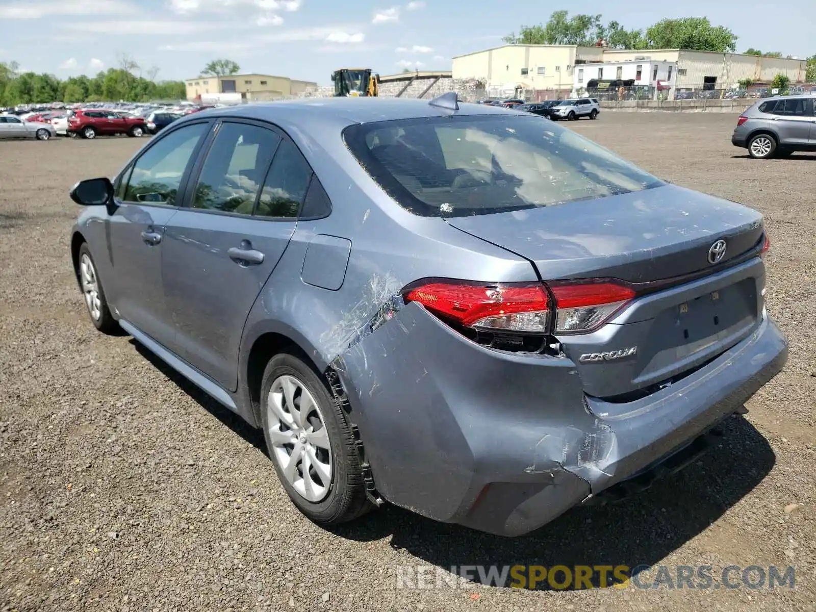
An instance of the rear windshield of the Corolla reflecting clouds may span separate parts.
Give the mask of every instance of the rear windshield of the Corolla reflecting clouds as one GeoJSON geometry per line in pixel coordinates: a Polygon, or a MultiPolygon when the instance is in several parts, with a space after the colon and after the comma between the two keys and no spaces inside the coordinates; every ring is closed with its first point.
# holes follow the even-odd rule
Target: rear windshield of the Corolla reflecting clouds
{"type": "Polygon", "coordinates": [[[389,196],[424,216],[486,215],[663,184],[534,115],[363,123],[348,126],[344,139],[389,196]]]}

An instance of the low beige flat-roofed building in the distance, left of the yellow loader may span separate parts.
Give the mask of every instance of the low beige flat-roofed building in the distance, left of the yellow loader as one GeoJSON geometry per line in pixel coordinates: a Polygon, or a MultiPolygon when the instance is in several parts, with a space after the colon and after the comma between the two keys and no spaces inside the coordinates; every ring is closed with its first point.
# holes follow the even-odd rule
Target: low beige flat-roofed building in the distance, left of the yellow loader
{"type": "Polygon", "coordinates": [[[291,95],[317,91],[317,83],[297,81],[271,74],[230,74],[224,77],[188,78],[187,99],[196,100],[204,94],[238,93],[247,101],[279,100],[291,95]]]}

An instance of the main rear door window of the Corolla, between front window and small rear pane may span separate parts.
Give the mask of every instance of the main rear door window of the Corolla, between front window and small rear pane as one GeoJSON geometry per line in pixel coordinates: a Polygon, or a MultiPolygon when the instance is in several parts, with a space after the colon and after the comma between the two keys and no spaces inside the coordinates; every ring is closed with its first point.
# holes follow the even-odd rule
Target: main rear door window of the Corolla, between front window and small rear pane
{"type": "Polygon", "coordinates": [[[193,208],[251,215],[280,141],[265,127],[224,123],[198,177],[193,208]]]}

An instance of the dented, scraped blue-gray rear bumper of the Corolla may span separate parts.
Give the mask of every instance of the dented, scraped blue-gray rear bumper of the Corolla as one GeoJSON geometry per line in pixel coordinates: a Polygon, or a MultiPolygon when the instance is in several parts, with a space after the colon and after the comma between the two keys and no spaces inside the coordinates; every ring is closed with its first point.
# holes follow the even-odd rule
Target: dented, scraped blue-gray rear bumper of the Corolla
{"type": "Polygon", "coordinates": [[[384,499],[512,536],[675,454],[786,360],[765,317],[694,374],[613,405],[583,393],[567,358],[481,347],[408,304],[335,368],[384,499]]]}

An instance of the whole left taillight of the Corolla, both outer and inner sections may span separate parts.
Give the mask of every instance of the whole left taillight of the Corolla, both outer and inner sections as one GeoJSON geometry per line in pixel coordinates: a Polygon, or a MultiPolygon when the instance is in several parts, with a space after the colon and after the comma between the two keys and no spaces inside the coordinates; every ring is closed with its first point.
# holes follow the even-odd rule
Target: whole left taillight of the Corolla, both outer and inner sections
{"type": "Polygon", "coordinates": [[[481,330],[585,334],[609,321],[635,297],[630,287],[606,281],[553,282],[550,289],[557,306],[554,329],[547,286],[539,282],[474,285],[432,281],[409,288],[405,299],[481,330]]]}

